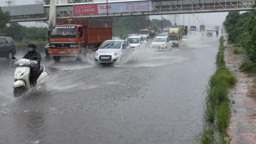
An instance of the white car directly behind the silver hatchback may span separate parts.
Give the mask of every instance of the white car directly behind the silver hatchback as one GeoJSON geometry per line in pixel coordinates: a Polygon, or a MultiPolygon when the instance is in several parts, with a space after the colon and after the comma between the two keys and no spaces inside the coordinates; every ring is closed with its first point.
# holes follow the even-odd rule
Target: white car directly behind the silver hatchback
{"type": "Polygon", "coordinates": [[[145,42],[142,36],[130,36],[126,38],[126,40],[130,43],[133,51],[145,47],[145,42]]]}

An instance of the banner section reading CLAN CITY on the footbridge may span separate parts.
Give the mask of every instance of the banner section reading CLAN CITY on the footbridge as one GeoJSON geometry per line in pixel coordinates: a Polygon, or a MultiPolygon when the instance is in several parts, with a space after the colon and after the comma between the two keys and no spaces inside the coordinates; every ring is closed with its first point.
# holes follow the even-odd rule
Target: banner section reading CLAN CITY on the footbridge
{"type": "MultiPolygon", "coordinates": [[[[123,3],[110,3],[108,4],[108,13],[124,12],[123,3]]],[[[98,4],[98,13],[107,13],[107,4],[98,4]]]]}

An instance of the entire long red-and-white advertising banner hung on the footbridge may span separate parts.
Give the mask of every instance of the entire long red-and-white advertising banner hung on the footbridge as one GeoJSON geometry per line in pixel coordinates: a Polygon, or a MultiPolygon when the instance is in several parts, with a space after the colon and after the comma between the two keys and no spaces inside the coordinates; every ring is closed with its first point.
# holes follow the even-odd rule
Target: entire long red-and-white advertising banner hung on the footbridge
{"type": "MultiPolygon", "coordinates": [[[[152,2],[109,3],[108,13],[152,11],[152,2]]],[[[74,5],[74,15],[107,13],[107,4],[74,5]]]]}

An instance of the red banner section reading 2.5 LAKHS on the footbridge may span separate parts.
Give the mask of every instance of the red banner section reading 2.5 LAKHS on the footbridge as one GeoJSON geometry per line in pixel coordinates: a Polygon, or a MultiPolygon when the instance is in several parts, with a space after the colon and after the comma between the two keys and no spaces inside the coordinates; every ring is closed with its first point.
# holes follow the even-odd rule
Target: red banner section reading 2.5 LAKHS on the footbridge
{"type": "Polygon", "coordinates": [[[79,14],[97,14],[98,7],[97,5],[74,5],[73,6],[74,15],[79,14]]]}

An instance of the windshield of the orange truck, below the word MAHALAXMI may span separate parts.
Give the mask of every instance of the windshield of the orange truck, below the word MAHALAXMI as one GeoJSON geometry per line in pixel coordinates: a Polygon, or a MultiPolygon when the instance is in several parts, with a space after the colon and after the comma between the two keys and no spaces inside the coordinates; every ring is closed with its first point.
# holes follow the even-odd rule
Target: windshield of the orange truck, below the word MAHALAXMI
{"type": "Polygon", "coordinates": [[[50,38],[76,38],[76,26],[55,26],[50,38]]]}

